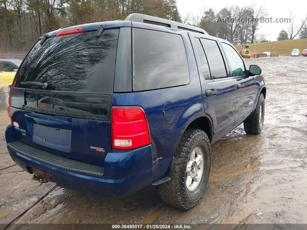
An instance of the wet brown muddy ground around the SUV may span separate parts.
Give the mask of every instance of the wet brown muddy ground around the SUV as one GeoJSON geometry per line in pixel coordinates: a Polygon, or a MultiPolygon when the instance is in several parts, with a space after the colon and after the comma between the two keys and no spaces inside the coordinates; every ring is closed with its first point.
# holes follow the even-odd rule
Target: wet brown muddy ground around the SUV
{"type": "MultiPolygon", "coordinates": [[[[154,186],[115,200],[56,187],[10,228],[167,223],[197,229],[306,229],[307,57],[264,57],[246,62],[256,62],[266,78],[262,133],[247,135],[240,125],[212,145],[208,186],[194,209],[182,211],[163,203],[154,186]],[[259,212],[262,215],[257,216],[259,212]]],[[[2,169],[14,162],[4,138],[9,123],[6,111],[0,112],[0,119],[2,169]]],[[[0,170],[0,228],[55,186],[51,182],[40,184],[31,177],[18,166],[0,170]]],[[[111,227],[96,227],[107,226],[111,227]]]]}

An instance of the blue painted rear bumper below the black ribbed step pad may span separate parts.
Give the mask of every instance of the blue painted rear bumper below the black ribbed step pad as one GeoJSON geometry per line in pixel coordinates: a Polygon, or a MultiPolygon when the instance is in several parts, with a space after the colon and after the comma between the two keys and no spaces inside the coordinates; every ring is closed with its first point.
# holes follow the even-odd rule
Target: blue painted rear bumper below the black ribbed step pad
{"type": "MultiPolygon", "coordinates": [[[[14,126],[7,127],[6,141],[17,141],[14,126]]],[[[18,152],[9,145],[7,148],[14,162],[25,171],[43,171],[50,174],[58,186],[92,196],[127,196],[150,185],[152,180],[151,145],[129,152],[109,152],[105,159],[103,176],[64,170],[30,158],[29,155],[25,156],[22,151],[18,152]]]]}

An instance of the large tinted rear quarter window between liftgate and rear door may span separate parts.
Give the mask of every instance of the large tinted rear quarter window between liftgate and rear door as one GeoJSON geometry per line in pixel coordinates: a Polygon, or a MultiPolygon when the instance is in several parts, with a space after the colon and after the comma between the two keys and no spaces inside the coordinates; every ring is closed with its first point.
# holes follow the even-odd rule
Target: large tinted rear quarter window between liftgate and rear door
{"type": "Polygon", "coordinates": [[[190,81],[179,34],[133,29],[133,90],[165,88],[190,81]]]}

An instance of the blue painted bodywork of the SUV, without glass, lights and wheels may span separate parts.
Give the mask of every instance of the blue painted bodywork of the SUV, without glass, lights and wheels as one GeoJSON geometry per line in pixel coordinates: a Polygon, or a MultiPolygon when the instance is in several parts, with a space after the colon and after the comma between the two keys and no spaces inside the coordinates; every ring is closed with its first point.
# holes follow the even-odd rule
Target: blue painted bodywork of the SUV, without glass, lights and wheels
{"type": "MultiPolygon", "coordinates": [[[[146,112],[152,143],[135,150],[111,148],[110,120],[48,115],[22,107],[11,107],[12,119],[18,128],[16,124],[15,127],[7,127],[7,143],[20,140],[52,154],[104,167],[103,177],[74,173],[38,162],[8,147],[13,160],[21,168],[48,173],[63,188],[102,197],[121,197],[134,193],[167,176],[182,134],[193,121],[205,118],[211,127],[208,131],[210,141],[216,142],[252,113],[260,92],[265,89],[262,75],[231,76],[220,39],[131,21],[80,26],[84,32],[95,31],[102,23],[106,25],[105,29],[133,27],[179,34],[185,46],[190,81],[183,86],[112,94],[112,106],[137,105],[146,112]],[[193,40],[195,37],[217,41],[225,61],[227,78],[204,80],[193,40]],[[237,84],[241,83],[246,87],[238,91],[237,84]],[[205,92],[208,89],[216,89],[217,94],[207,97],[205,92]],[[104,152],[91,147],[103,148],[104,152]]],[[[48,37],[54,37],[60,30],[48,33],[48,37]]],[[[22,106],[24,90],[14,88],[12,92],[18,93],[19,97],[16,98],[22,106]]]]}

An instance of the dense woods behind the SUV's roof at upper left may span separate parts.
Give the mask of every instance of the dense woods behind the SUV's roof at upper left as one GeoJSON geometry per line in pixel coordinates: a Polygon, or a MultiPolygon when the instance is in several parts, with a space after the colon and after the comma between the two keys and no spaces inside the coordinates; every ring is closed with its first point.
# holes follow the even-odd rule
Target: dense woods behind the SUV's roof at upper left
{"type": "Polygon", "coordinates": [[[0,0],[0,48],[27,51],[41,35],[60,27],[133,13],[181,22],[176,8],[176,0],[0,0]]]}

